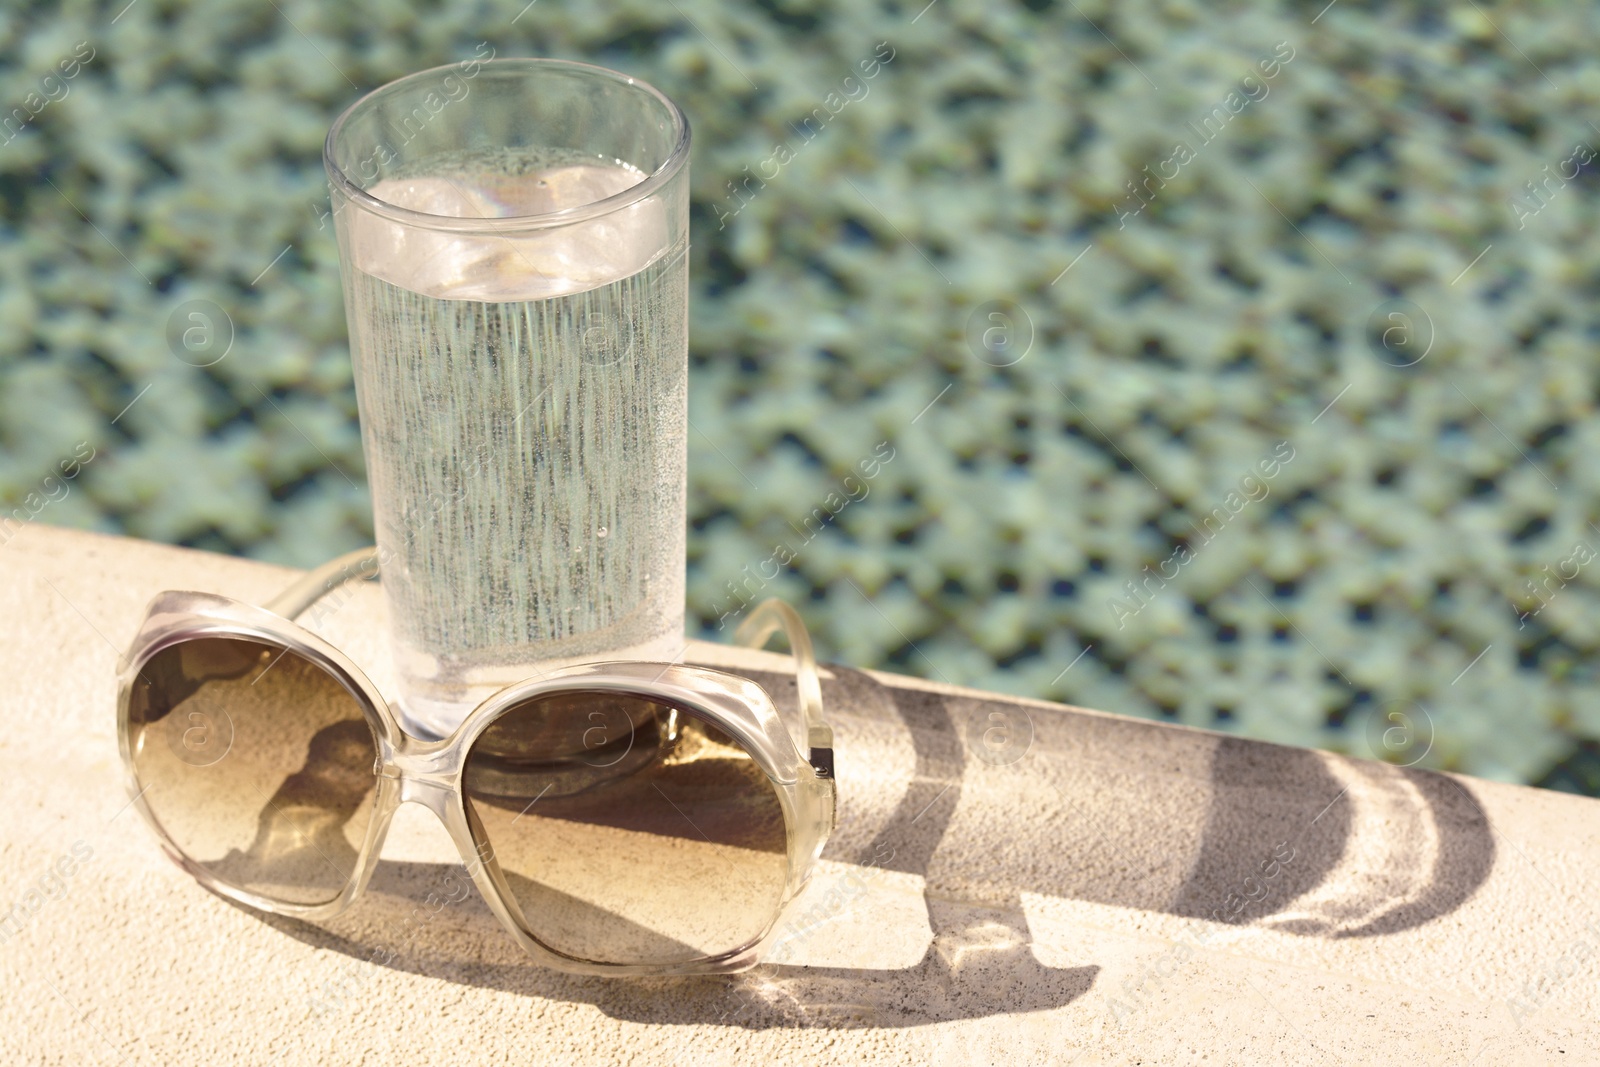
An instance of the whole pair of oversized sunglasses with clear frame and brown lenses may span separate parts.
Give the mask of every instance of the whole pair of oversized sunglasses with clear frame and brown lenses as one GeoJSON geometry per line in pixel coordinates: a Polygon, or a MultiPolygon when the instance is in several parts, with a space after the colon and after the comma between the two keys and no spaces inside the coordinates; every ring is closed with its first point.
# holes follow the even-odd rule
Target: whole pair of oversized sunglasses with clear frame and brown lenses
{"type": "Polygon", "coordinates": [[[120,665],[117,733],[162,848],[213,893],[320,920],[360,896],[394,813],[419,803],[546,966],[754,966],[835,824],[834,734],[794,608],[758,605],[734,638],[786,633],[800,709],[787,725],[749,678],[602,662],[507,686],[426,741],[293,622],[376,573],[365,549],[266,608],[202,592],[150,601],[120,665]]]}

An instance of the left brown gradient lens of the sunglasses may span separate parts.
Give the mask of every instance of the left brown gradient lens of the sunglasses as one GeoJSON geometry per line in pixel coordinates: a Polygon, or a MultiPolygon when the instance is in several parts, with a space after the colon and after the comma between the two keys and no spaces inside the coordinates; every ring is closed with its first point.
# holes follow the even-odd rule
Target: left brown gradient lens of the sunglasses
{"type": "Polygon", "coordinates": [[[378,747],[331,673],[262,641],[173,645],[134,678],[128,733],[144,803],[190,861],[288,904],[350,881],[378,747]]]}

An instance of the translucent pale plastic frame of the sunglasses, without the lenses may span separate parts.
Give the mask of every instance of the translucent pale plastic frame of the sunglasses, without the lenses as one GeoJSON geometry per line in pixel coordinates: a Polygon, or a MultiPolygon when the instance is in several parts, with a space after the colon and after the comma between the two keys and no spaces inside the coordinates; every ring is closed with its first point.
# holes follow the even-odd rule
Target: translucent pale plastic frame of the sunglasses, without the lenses
{"type": "MultiPolygon", "coordinates": [[[[507,686],[480,704],[448,737],[421,739],[406,734],[398,726],[395,709],[355,662],[293,621],[294,616],[341,582],[370,577],[376,571],[378,557],[371,549],[366,549],[312,571],[267,606],[205,592],[163,592],[150,601],[144,621],[118,665],[117,733],[131,803],[139,808],[139,814],[155,830],[166,854],[208,889],[227,899],[275,915],[304,920],[330,918],[350,907],[366,886],[382,851],[390,819],[400,805],[419,803],[445,824],[467,873],[494,917],[544,966],[579,974],[616,976],[715,974],[754,966],[771,941],[779,920],[811,877],[837,817],[832,729],[822,717],[816,659],[798,614],[781,601],[768,600],[749,614],[736,633],[739,643],[752,648],[765,646],[778,630],[786,633],[795,656],[798,715],[792,723],[784,721],[762,686],[734,673],[685,664],[598,662],[566,667],[507,686]],[[208,638],[222,638],[222,641],[208,638]],[[277,670],[286,672],[283,677],[309,678],[322,685],[326,693],[333,694],[330,699],[350,709],[352,720],[357,718],[355,709],[358,709],[358,718],[371,731],[371,781],[365,779],[366,771],[352,773],[349,766],[355,758],[350,755],[352,752],[366,752],[365,737],[350,736],[350,731],[346,729],[344,737],[336,739],[339,744],[355,745],[341,750],[346,766],[338,769],[346,779],[360,779],[357,795],[362,798],[362,805],[370,806],[363,806],[365,821],[350,819],[344,825],[344,838],[330,838],[347,853],[339,864],[328,869],[338,870],[339,878],[342,878],[342,883],[339,878],[326,883],[330,899],[296,902],[285,899],[282,893],[272,894],[248,888],[248,878],[222,877],[216,870],[218,862],[200,862],[186,853],[171,829],[163,825],[157,814],[160,809],[166,811],[168,821],[182,817],[189,822],[205,822],[213,817],[211,808],[205,803],[194,803],[190,805],[194,809],[179,809],[174,816],[168,801],[157,795],[162,782],[155,779],[141,782],[139,760],[147,758],[141,753],[141,745],[155,747],[157,744],[152,741],[155,718],[138,710],[144,707],[141,701],[147,701],[147,697],[139,696],[141,686],[149,691],[152,685],[146,675],[166,670],[171,677],[173,656],[181,656],[186,648],[194,651],[219,646],[245,649],[246,653],[259,651],[262,662],[266,662],[261,675],[282,661],[285,665],[277,667],[277,670]],[[763,909],[765,923],[758,933],[741,937],[733,947],[696,958],[650,958],[650,953],[642,949],[640,961],[581,958],[546,944],[549,937],[541,941],[531,933],[528,915],[523,913],[517,893],[507,881],[507,870],[502,869],[496,856],[496,846],[490,841],[490,835],[475,814],[475,801],[469,797],[469,789],[464,787],[464,776],[474,753],[474,744],[504,715],[536,707],[541,697],[581,699],[594,694],[616,694],[619,699],[645,701],[650,702],[650,707],[670,709],[674,721],[682,712],[686,718],[709,725],[710,734],[722,741],[731,741],[742,750],[741,757],[749,757],[760,769],[760,776],[765,776],[765,782],[771,785],[782,813],[786,865],[782,867],[781,889],[771,897],[771,913],[765,915],[763,909]],[[134,715],[139,717],[138,721],[134,721],[134,715]]],[[[254,686],[254,681],[250,686],[254,686]]],[[[250,691],[248,696],[250,699],[270,699],[270,685],[261,686],[250,691]]],[[[246,686],[240,683],[237,693],[245,694],[246,686]]],[[[270,720],[266,715],[270,710],[269,705],[262,713],[262,721],[267,721],[269,726],[270,720]]],[[[157,715],[165,713],[157,712],[157,715]]],[[[176,718],[174,715],[174,721],[166,725],[168,737],[176,737],[174,729],[184,725],[176,718]]],[[[197,718],[197,715],[189,713],[187,718],[197,718]]],[[[229,720],[226,713],[219,718],[229,720]]],[[[227,742],[232,742],[232,729],[243,728],[243,712],[235,718],[240,718],[240,726],[235,726],[232,720],[224,723],[229,731],[227,742]]],[[[338,725],[350,726],[355,734],[360,734],[354,721],[338,725]]],[[[202,726],[203,723],[195,725],[189,733],[202,729],[202,726]]],[[[187,739],[187,733],[184,737],[187,739]]],[[[632,747],[632,741],[629,744],[632,747]]],[[[179,747],[173,750],[178,752],[176,758],[194,766],[200,765],[195,757],[179,747]]],[[[221,768],[218,779],[230,789],[226,800],[238,803],[238,797],[248,797],[246,785],[227,781],[227,774],[234,774],[234,771],[226,765],[226,747],[222,752],[222,757],[216,757],[218,768],[221,768]]],[[[171,758],[165,753],[157,755],[171,758]]],[[[290,777],[306,777],[306,774],[291,774],[290,777]]],[[[323,779],[315,779],[310,785],[323,793],[330,789],[328,781],[323,779]]],[[[267,797],[259,784],[256,789],[261,790],[262,797],[267,797]]],[[[603,797],[603,793],[594,795],[603,797]]],[[[267,832],[267,808],[275,808],[277,797],[278,793],[274,793],[274,798],[269,798],[259,811],[262,833],[267,832]]],[[[662,797],[666,798],[666,793],[662,797]]],[[[707,845],[710,845],[710,838],[707,838],[707,845]]],[[[714,888],[717,886],[704,886],[704,889],[714,888]]],[[[674,893],[682,891],[682,888],[662,888],[661,891],[674,893]]],[[[683,907],[704,905],[702,899],[678,901],[677,904],[683,907]]],[[[626,936],[622,936],[622,942],[626,945],[626,936]]]]}

